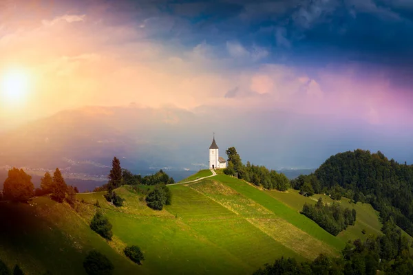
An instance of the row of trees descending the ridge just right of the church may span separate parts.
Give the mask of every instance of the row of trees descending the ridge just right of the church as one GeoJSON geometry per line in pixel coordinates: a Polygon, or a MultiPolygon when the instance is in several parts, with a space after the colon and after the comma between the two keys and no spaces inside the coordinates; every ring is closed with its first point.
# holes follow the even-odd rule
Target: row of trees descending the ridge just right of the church
{"type": "Polygon", "coordinates": [[[228,167],[224,169],[226,175],[237,173],[238,178],[266,189],[285,191],[290,188],[290,181],[283,173],[277,173],[275,170],[253,165],[250,162],[246,162],[244,165],[235,147],[228,148],[225,153],[228,155],[228,167]]]}

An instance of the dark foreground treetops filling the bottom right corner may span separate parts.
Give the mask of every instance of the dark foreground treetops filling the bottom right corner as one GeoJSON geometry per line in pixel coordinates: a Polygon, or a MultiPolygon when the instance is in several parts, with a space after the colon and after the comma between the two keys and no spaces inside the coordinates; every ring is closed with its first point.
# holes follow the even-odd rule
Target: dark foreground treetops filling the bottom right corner
{"type": "Polygon", "coordinates": [[[412,274],[411,243],[390,218],[381,228],[383,236],[369,235],[366,241],[357,239],[346,244],[341,257],[319,254],[310,262],[280,258],[257,270],[254,275],[376,275],[381,270],[388,275],[412,274]]]}

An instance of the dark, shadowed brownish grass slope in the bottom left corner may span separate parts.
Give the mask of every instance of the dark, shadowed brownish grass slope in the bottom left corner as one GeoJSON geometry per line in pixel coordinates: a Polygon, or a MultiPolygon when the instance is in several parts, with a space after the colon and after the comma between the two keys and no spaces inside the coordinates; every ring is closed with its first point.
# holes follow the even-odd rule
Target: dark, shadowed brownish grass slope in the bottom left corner
{"type": "Polygon", "coordinates": [[[30,204],[1,203],[0,259],[10,267],[18,263],[25,274],[85,274],[83,259],[89,250],[105,254],[115,274],[136,273],[136,265],[120,256],[89,229],[67,204],[48,197],[30,204]]]}

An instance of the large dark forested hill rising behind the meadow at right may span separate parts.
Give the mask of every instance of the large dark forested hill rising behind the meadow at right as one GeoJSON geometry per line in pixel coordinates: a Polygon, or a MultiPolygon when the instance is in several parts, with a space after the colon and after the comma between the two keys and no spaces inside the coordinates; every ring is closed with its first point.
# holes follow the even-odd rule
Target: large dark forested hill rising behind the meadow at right
{"type": "Polygon", "coordinates": [[[413,166],[399,164],[378,151],[355,150],[328,158],[312,175],[292,181],[293,188],[310,184],[332,199],[348,197],[370,203],[381,219],[392,219],[413,236],[413,166]]]}

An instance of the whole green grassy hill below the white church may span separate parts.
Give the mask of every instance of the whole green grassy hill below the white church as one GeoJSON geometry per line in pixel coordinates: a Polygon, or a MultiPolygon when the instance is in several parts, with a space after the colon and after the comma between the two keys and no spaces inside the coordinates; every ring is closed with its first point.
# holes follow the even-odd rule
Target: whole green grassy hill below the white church
{"type": "Polygon", "coordinates": [[[169,188],[172,204],[161,211],[148,208],[130,186],[116,190],[125,198],[121,208],[107,203],[104,192],[78,194],[74,209],[48,197],[0,203],[0,259],[10,267],[19,263],[27,274],[85,274],[83,259],[96,249],[114,263],[115,274],[252,274],[283,255],[298,261],[321,252],[339,256],[346,241],[365,236],[362,229],[380,234],[377,212],[348,199],[341,203],[356,208],[356,224],[332,236],[299,214],[319,195],[262,190],[226,175],[169,188]],[[112,241],[89,229],[96,200],[113,224],[112,241]],[[123,255],[126,245],[140,246],[143,265],[123,255]]]}

